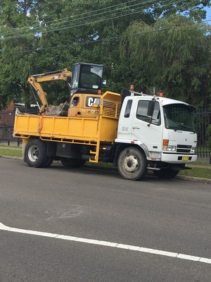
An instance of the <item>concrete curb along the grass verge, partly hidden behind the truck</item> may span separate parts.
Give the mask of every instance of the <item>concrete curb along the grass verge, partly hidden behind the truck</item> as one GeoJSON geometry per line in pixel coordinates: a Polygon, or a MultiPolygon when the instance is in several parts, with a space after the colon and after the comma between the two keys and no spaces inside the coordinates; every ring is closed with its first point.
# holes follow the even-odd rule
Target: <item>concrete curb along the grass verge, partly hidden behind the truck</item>
{"type": "MultiPolygon", "coordinates": [[[[23,157],[5,156],[3,154],[0,155],[0,158],[23,160],[23,157]]],[[[59,162],[57,162],[57,164],[59,164],[59,162]]],[[[113,168],[113,167],[91,166],[89,164],[85,165],[84,167],[89,168],[89,169],[95,169],[95,168],[98,170],[101,169],[101,171],[113,171],[113,172],[118,171],[117,168],[113,168]]],[[[211,184],[211,179],[208,179],[208,178],[199,178],[199,177],[191,177],[191,176],[176,176],[174,179],[211,184]]]]}

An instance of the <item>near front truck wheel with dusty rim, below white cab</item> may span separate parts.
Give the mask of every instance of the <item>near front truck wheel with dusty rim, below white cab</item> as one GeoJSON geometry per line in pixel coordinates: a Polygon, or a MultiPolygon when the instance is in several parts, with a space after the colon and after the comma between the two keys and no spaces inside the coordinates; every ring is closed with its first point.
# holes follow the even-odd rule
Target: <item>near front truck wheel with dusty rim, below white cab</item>
{"type": "Polygon", "coordinates": [[[146,157],[139,149],[128,147],[122,150],[117,160],[120,176],[128,180],[139,180],[146,175],[146,157]]]}

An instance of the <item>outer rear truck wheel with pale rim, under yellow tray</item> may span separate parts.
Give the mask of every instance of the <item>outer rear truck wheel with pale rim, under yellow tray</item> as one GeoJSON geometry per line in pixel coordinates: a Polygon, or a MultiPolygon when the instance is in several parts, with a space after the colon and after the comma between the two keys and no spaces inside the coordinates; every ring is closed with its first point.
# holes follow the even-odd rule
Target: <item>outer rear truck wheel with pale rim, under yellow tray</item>
{"type": "Polygon", "coordinates": [[[46,167],[49,165],[49,157],[46,156],[47,146],[46,143],[33,139],[28,142],[25,148],[25,161],[28,166],[35,168],[46,167]]]}

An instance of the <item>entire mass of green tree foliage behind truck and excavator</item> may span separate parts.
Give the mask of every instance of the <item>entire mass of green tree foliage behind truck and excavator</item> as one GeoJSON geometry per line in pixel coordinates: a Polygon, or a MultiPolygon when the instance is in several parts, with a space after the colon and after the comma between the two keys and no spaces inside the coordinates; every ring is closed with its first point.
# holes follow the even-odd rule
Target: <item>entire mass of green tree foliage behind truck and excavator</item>
{"type": "MultiPolygon", "coordinates": [[[[71,70],[79,61],[105,66],[107,90],[119,92],[134,83],[139,91],[156,84],[177,99],[201,106],[210,103],[210,36],[205,36],[207,25],[191,22],[205,18],[203,8],[210,1],[198,4],[198,0],[148,6],[138,0],[1,1],[0,108],[12,99],[33,102],[28,75],[71,70]],[[167,17],[175,13],[190,19],[167,17]],[[162,28],[168,30],[157,32],[162,28]]],[[[50,103],[67,100],[63,85],[46,85],[46,92],[50,103]]]]}

